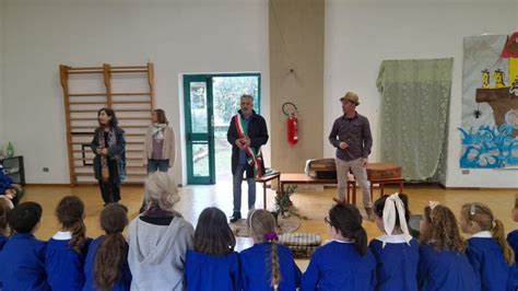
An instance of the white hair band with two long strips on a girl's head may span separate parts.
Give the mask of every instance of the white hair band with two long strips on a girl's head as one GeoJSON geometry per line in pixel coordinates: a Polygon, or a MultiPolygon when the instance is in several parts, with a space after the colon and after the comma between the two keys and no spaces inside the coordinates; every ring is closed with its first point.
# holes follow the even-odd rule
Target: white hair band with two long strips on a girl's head
{"type": "MultiPolygon", "coordinates": [[[[409,232],[409,226],[407,225],[407,219],[404,217],[404,203],[399,198],[399,194],[395,193],[387,197],[387,200],[385,200],[385,207],[384,207],[384,228],[385,232],[388,235],[392,235],[392,232],[396,228],[396,218],[399,217],[399,224],[401,226],[401,231],[403,232],[404,235],[404,241],[407,244],[410,245],[410,240],[412,240],[412,235],[410,235],[409,232]]],[[[382,247],[385,247],[387,243],[384,242],[382,247]]]]}

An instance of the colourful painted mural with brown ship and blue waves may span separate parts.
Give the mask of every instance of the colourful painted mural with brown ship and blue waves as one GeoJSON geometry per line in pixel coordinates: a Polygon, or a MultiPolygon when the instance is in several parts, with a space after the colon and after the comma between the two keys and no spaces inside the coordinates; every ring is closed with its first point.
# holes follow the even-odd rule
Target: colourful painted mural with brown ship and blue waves
{"type": "Polygon", "coordinates": [[[518,168],[518,32],[464,38],[463,168],[518,168]]]}

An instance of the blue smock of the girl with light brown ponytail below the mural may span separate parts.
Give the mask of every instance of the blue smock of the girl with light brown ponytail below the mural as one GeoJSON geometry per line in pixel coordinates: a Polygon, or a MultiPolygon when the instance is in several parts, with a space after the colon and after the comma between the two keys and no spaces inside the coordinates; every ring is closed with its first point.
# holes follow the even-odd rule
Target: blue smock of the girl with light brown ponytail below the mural
{"type": "Polygon", "coordinates": [[[506,290],[509,266],[498,242],[488,231],[475,233],[468,240],[466,252],[480,277],[481,290],[506,290]]]}

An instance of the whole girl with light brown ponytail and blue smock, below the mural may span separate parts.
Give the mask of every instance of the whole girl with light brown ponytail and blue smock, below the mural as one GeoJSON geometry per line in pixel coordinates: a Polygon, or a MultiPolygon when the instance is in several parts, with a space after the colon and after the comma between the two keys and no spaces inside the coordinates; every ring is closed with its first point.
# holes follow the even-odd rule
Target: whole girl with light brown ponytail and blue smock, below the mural
{"type": "Polygon", "coordinates": [[[515,256],[502,221],[483,203],[466,203],[460,211],[460,228],[471,234],[467,255],[480,276],[482,290],[506,290],[515,256]]]}

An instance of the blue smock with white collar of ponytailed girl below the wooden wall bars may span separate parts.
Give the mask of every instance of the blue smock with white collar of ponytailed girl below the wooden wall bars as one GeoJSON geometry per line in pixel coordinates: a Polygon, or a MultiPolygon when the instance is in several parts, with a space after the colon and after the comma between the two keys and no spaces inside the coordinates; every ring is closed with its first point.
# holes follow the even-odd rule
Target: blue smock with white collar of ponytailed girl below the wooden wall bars
{"type": "Polygon", "coordinates": [[[84,260],[92,240],[87,238],[79,254],[70,245],[71,238],[70,232],[57,232],[47,242],[45,271],[52,291],[81,290],[84,286],[84,260]]]}

